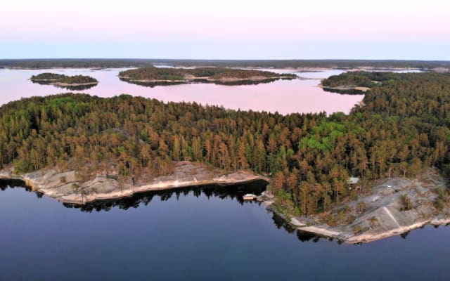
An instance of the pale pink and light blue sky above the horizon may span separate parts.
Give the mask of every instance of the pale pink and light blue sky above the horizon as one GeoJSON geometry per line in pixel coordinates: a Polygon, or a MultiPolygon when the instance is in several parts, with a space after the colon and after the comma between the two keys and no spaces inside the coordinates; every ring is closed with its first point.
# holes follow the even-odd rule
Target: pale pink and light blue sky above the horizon
{"type": "Polygon", "coordinates": [[[449,13],[448,0],[5,1],[0,58],[450,60],[449,13]]]}

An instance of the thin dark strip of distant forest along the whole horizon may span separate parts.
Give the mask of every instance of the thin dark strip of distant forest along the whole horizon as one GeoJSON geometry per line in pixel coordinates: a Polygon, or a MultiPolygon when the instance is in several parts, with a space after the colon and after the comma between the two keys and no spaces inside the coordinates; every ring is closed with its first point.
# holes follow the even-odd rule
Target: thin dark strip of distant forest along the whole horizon
{"type": "Polygon", "coordinates": [[[0,67],[52,68],[52,67],[148,67],[154,64],[179,67],[327,67],[349,69],[353,67],[378,68],[418,68],[430,70],[438,67],[449,68],[449,61],[427,60],[171,60],[171,59],[104,59],[104,58],[65,58],[65,59],[20,59],[0,60],[0,67]]]}

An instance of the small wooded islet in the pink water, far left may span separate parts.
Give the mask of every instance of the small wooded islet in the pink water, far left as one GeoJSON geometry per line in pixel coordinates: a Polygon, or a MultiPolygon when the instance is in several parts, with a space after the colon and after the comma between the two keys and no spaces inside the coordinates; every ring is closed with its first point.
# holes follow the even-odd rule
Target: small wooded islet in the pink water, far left
{"type": "Polygon", "coordinates": [[[56,74],[45,72],[33,75],[30,80],[37,84],[51,84],[70,90],[85,90],[98,84],[97,79],[85,75],[67,76],[64,74],[56,74]]]}

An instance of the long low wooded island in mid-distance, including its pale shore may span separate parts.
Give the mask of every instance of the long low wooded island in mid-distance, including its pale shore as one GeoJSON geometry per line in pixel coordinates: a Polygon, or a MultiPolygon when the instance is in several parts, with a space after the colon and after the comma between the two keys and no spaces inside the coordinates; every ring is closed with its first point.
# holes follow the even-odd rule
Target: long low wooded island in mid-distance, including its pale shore
{"type": "Polygon", "coordinates": [[[236,84],[275,81],[277,79],[295,79],[295,74],[278,74],[261,70],[240,70],[224,67],[143,67],[124,70],[119,73],[121,80],[136,84],[180,84],[190,81],[212,82],[215,84],[236,84]]]}

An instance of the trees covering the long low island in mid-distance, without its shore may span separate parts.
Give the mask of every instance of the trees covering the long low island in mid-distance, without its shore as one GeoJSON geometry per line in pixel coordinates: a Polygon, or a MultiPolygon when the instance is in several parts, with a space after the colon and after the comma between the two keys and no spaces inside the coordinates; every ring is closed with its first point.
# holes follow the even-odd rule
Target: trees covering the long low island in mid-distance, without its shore
{"type": "Polygon", "coordinates": [[[137,81],[170,80],[179,81],[186,77],[202,79],[250,79],[252,77],[290,77],[296,78],[295,74],[277,74],[259,70],[238,70],[223,67],[198,67],[198,68],[172,68],[172,67],[143,67],[134,70],[119,72],[122,79],[137,81]]]}

